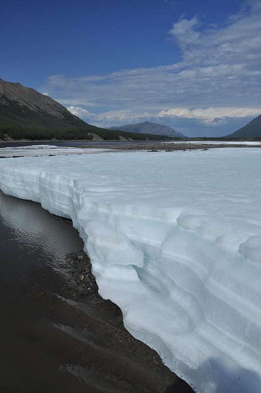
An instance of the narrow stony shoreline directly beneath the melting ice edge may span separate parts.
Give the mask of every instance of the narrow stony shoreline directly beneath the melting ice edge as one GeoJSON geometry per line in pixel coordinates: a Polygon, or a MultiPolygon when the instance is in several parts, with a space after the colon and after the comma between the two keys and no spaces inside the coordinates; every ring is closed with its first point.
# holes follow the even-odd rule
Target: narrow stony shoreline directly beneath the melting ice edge
{"type": "MultiPolygon", "coordinates": [[[[138,366],[139,371],[144,373],[144,386],[141,386],[140,391],[135,390],[135,393],[143,393],[147,389],[150,392],[158,393],[194,393],[193,389],[184,380],[163,364],[155,350],[131,336],[125,329],[121,310],[116,304],[103,299],[99,295],[87,254],[84,251],[67,254],[66,265],[76,285],[66,295],[70,295],[73,300],[82,302],[101,313],[103,322],[107,325],[110,335],[112,335],[112,342],[106,342],[106,347],[108,345],[109,347],[111,345],[121,346],[124,353],[122,354],[121,350],[121,353],[117,356],[120,358],[123,356],[127,365],[135,364],[135,367],[138,366]],[[148,383],[154,385],[155,390],[146,386],[148,383]]],[[[112,350],[117,352],[115,347],[112,350]]]]}

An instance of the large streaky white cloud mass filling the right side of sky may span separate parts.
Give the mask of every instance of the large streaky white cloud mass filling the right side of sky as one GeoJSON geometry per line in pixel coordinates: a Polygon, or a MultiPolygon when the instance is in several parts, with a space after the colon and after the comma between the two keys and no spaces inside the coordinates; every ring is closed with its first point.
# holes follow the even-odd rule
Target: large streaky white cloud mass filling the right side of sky
{"type": "Polygon", "coordinates": [[[183,115],[205,126],[260,114],[261,1],[244,2],[220,26],[181,18],[169,34],[181,49],[179,63],[82,78],[53,75],[42,91],[66,106],[85,106],[77,115],[96,125],[138,121],[143,113],[173,121],[183,115]]]}

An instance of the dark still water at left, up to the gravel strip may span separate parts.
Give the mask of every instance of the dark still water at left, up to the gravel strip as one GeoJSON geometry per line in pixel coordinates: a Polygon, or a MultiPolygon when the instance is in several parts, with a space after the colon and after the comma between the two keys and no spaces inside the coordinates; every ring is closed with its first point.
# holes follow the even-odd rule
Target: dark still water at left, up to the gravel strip
{"type": "Polygon", "coordinates": [[[55,270],[81,248],[70,223],[0,192],[0,392],[86,392],[60,370],[71,343],[54,326],[54,293],[66,281],[55,270]]]}

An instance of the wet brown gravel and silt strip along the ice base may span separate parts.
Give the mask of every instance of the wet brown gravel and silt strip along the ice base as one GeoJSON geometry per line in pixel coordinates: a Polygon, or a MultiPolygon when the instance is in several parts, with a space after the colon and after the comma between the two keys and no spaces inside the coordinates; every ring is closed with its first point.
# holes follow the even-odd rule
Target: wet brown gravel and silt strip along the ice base
{"type": "Polygon", "coordinates": [[[93,321],[88,317],[83,327],[91,331],[91,325],[97,325],[91,340],[99,346],[101,353],[111,357],[104,366],[113,379],[123,384],[122,392],[193,393],[186,382],[163,365],[154,350],[126,331],[121,310],[98,294],[86,253],[68,254],[66,264],[75,282],[75,287],[66,296],[90,306],[94,311],[93,321]]]}

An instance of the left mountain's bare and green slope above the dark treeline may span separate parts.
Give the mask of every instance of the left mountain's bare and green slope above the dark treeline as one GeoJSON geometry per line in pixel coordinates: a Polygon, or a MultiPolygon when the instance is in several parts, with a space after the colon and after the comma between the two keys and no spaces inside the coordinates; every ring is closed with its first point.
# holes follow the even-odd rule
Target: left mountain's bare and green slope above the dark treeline
{"type": "Polygon", "coordinates": [[[87,123],[52,98],[20,83],[0,79],[0,125],[75,128],[87,123]]]}

